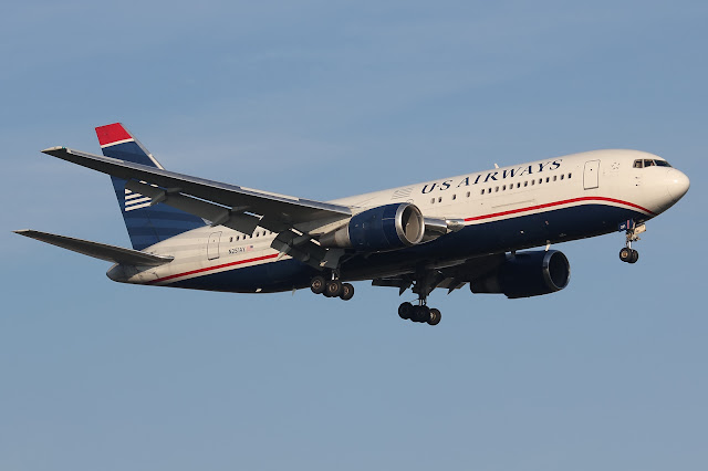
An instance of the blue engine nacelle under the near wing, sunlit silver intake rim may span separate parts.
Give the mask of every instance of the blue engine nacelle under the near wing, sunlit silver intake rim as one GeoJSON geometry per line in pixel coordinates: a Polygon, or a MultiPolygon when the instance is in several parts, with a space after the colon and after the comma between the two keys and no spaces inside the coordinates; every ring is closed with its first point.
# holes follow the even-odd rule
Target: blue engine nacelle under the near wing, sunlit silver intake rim
{"type": "Polygon", "coordinates": [[[409,202],[367,209],[350,222],[320,238],[322,247],[383,252],[420,243],[425,221],[417,206],[409,202]]]}

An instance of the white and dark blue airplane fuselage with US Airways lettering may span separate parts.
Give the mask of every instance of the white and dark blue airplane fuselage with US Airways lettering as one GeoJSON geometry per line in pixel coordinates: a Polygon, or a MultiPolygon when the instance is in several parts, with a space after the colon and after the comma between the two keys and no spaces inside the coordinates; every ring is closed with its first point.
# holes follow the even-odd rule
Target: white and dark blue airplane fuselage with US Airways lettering
{"type": "MultiPolygon", "coordinates": [[[[664,161],[638,150],[595,150],[331,201],[352,207],[355,213],[410,202],[425,217],[465,221],[465,229],[434,242],[354,260],[348,279],[395,275],[420,262],[445,265],[597,236],[616,231],[623,219],[648,220],[686,192],[688,179],[668,166],[635,168],[642,159],[664,161]]],[[[337,224],[342,221],[298,229],[320,234],[337,224]]],[[[206,226],[145,250],[174,257],[173,262],[153,268],[116,265],[108,276],[128,283],[235,292],[306,286],[313,269],[271,249],[275,236],[262,228],[244,234],[206,226]]],[[[343,279],[347,279],[346,266],[343,279]]]]}

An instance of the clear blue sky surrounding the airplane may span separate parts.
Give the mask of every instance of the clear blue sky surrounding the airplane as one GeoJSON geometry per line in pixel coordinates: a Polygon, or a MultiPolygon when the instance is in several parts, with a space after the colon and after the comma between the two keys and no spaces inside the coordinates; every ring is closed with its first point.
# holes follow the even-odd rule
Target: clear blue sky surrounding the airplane
{"type": "MultiPolygon", "coordinates": [[[[40,2],[0,18],[0,469],[704,470],[705,2],[40,2]],[[347,303],[111,282],[10,231],[128,245],[52,159],[121,121],[168,168],[315,199],[595,148],[691,179],[559,245],[564,291],[347,303]]],[[[404,296],[405,297],[405,296],[404,296]]]]}

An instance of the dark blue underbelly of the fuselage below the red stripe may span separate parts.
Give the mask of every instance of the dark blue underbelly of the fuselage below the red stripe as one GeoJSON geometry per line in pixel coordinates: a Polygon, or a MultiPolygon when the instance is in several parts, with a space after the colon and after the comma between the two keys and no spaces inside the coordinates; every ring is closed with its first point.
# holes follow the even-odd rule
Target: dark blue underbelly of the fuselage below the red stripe
{"type": "MultiPolygon", "coordinates": [[[[341,269],[343,280],[371,280],[414,270],[421,263],[445,263],[491,253],[529,249],[615,232],[627,219],[646,219],[637,211],[585,205],[538,214],[467,226],[435,241],[393,252],[354,257],[341,269]]],[[[319,271],[296,260],[281,260],[177,281],[168,286],[253,293],[306,287],[319,271]]]]}

